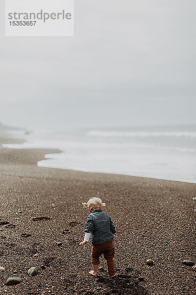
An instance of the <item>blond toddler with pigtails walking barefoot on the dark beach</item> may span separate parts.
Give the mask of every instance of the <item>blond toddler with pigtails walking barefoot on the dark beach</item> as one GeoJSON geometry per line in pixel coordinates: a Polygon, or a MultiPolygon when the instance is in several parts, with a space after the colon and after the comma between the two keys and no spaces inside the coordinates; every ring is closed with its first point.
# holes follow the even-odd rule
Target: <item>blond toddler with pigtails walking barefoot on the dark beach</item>
{"type": "Polygon", "coordinates": [[[92,234],[92,265],[93,270],[90,274],[96,276],[98,273],[99,256],[103,254],[107,262],[108,274],[115,276],[114,268],[114,237],[116,233],[115,226],[108,214],[102,211],[102,203],[99,198],[91,198],[88,203],[82,203],[88,207],[91,214],[87,217],[84,240],[79,245],[84,245],[89,241],[92,234]]]}

